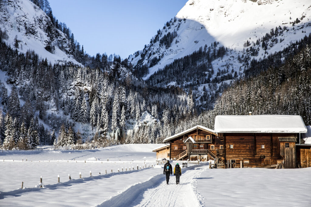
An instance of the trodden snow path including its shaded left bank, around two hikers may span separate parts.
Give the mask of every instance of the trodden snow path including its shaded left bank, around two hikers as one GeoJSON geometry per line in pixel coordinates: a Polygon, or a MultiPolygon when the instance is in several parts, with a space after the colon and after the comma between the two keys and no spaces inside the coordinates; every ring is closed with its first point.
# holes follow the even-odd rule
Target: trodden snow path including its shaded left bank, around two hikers
{"type": "Polygon", "coordinates": [[[201,206],[193,187],[193,178],[199,177],[206,169],[206,164],[183,168],[179,185],[176,185],[174,174],[169,179],[169,185],[166,185],[165,175],[161,173],[98,206],[201,206]]]}

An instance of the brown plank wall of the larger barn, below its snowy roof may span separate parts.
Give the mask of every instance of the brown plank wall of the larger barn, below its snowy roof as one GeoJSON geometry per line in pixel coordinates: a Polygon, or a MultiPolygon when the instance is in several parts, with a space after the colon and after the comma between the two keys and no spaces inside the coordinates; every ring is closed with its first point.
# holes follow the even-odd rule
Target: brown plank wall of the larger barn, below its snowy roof
{"type": "MultiPolygon", "coordinates": [[[[279,137],[293,137],[296,134],[225,133],[224,136],[227,162],[235,160],[236,167],[240,167],[240,161],[243,167],[260,167],[277,164],[277,160],[285,160],[285,144],[284,147],[280,145],[279,137]],[[233,145],[233,148],[230,148],[230,145],[233,145]]],[[[295,145],[295,142],[291,143],[295,145]]],[[[294,168],[296,165],[293,153],[294,150],[287,152],[285,168],[294,168]]]]}

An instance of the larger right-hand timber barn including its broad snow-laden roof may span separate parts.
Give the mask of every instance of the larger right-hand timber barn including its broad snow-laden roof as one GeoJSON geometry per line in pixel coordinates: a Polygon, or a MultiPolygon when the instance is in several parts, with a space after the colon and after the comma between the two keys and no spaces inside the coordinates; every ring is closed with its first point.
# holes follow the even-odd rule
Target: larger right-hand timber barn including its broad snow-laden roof
{"type": "Polygon", "coordinates": [[[215,131],[225,140],[227,168],[296,168],[296,144],[307,128],[298,115],[219,115],[215,131]]]}

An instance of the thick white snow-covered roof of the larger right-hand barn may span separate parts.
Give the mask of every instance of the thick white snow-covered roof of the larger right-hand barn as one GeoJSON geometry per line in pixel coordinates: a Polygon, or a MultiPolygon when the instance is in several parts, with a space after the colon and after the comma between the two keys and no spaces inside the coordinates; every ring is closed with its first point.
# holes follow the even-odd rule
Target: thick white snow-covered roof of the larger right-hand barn
{"type": "Polygon", "coordinates": [[[215,131],[258,133],[306,133],[307,128],[299,115],[218,115],[215,131]]]}

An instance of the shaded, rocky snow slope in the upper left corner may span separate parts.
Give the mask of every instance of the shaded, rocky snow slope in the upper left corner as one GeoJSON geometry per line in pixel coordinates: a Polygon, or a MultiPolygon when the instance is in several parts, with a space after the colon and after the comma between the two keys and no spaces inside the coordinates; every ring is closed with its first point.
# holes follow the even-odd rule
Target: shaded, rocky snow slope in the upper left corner
{"type": "Polygon", "coordinates": [[[5,41],[11,47],[17,36],[20,41],[17,48],[19,52],[26,53],[27,50],[33,50],[52,64],[56,62],[79,64],[70,55],[72,51],[66,35],[53,27],[44,11],[28,0],[0,1],[0,29],[7,33],[8,38],[5,41]],[[55,47],[53,54],[44,48],[48,45],[55,47]]]}

